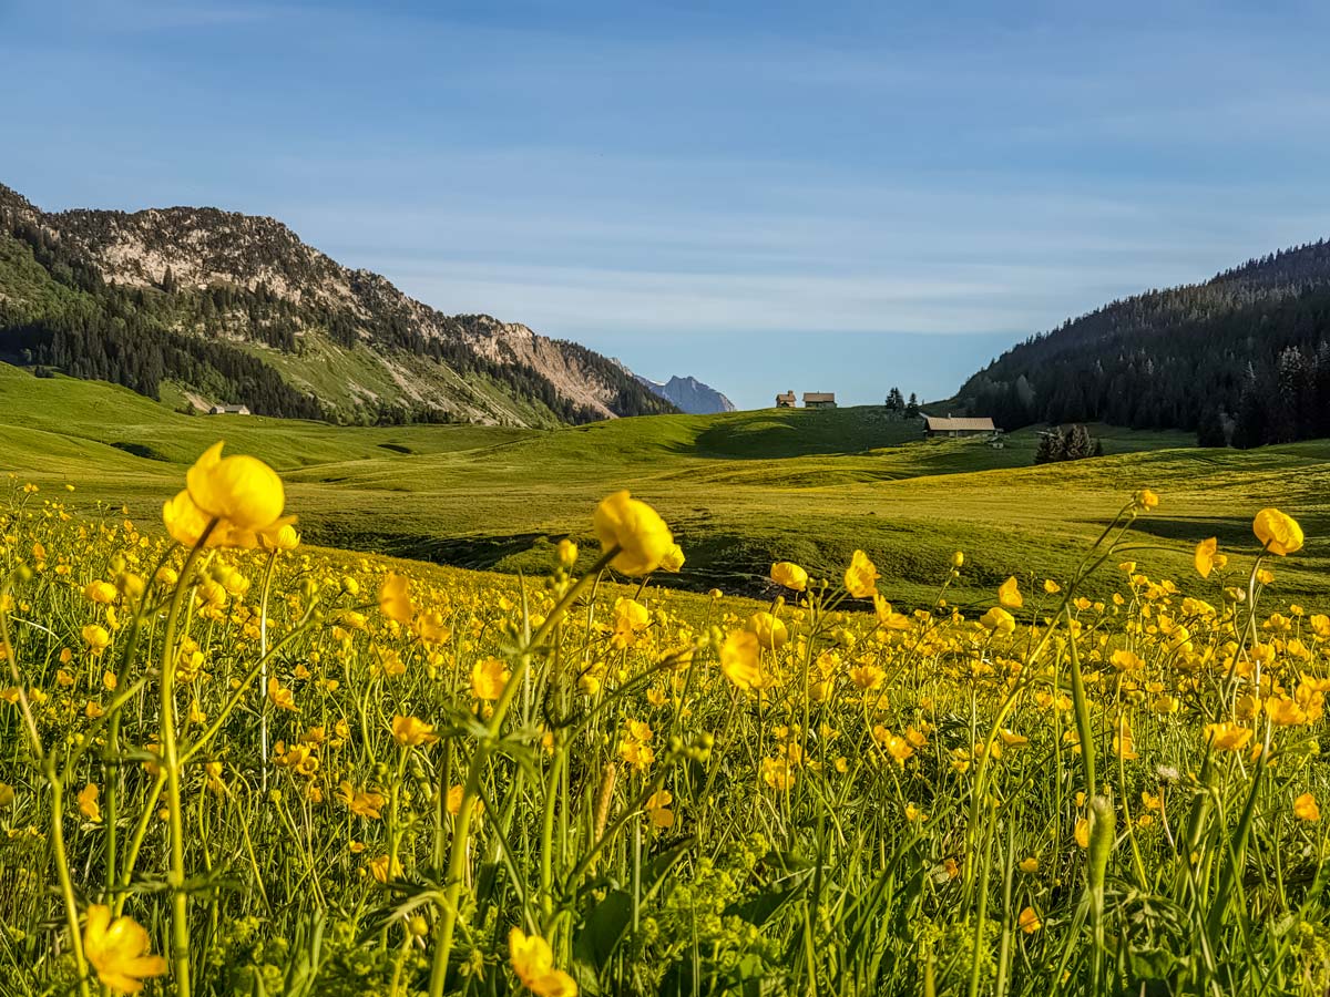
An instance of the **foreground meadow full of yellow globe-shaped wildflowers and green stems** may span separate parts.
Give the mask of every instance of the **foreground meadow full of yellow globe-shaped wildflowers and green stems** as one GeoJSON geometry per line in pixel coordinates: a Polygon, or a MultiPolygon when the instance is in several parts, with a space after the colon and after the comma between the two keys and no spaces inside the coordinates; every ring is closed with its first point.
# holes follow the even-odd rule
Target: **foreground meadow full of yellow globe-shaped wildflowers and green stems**
{"type": "Polygon", "coordinates": [[[49,489],[0,505],[3,994],[1330,990],[1277,509],[1156,578],[1124,495],[1067,577],[906,606],[862,550],[658,588],[628,492],[523,577],[306,548],[221,444],[161,522],[49,489]]]}

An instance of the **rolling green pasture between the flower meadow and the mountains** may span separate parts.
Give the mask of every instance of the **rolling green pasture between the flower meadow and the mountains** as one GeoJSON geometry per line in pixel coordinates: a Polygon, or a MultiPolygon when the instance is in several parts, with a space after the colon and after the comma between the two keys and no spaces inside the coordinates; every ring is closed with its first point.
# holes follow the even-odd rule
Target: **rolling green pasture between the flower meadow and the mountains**
{"type": "MultiPolygon", "coordinates": [[[[1003,449],[924,441],[878,408],[654,416],[553,432],[489,427],[344,428],[182,416],[126,389],[0,367],[0,471],[156,517],[182,467],[225,439],[283,472],[314,542],[468,568],[544,565],[545,545],[588,538],[589,512],[629,488],[660,508],[688,553],[678,582],[762,594],[773,560],[831,573],[857,548],[900,602],[923,601],[955,549],[962,600],[1024,568],[1064,576],[1136,488],[1164,498],[1142,522],[1152,574],[1190,572],[1202,537],[1246,545],[1252,514],[1279,505],[1307,530],[1281,589],[1323,593],[1330,566],[1330,444],[1197,449],[1177,433],[1099,427],[1107,456],[1032,467],[1036,437],[1003,449]]],[[[1033,580],[1033,577],[1032,577],[1033,580]]],[[[1105,580],[1103,590],[1109,584],[1105,580]]]]}

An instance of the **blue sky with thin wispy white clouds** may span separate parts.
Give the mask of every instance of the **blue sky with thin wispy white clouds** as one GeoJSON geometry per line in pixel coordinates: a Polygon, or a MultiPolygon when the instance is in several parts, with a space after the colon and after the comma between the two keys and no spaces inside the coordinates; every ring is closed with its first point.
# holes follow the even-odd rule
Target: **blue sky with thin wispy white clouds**
{"type": "Polygon", "coordinates": [[[739,405],[1330,234],[1323,4],[0,0],[0,182],[270,214],[739,405]]]}

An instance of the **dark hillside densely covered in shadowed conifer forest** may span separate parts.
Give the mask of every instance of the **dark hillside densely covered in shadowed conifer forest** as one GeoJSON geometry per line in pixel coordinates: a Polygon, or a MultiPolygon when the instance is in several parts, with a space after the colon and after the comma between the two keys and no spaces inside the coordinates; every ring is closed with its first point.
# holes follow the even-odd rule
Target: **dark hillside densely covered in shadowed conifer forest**
{"type": "Polygon", "coordinates": [[[1068,320],[958,397],[1007,429],[1105,421],[1238,447],[1330,436],[1330,243],[1068,320]]]}

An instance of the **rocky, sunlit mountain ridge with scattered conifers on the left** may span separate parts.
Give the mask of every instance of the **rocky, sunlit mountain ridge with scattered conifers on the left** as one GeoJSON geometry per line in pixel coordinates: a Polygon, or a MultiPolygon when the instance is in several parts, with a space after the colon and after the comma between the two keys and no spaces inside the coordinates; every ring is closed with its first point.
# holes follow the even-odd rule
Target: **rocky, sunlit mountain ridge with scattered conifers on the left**
{"type": "Polygon", "coordinates": [[[0,185],[0,359],[338,423],[556,425],[676,411],[585,347],[444,315],[273,218],[51,214],[0,185]]]}

